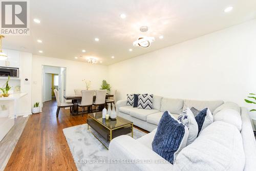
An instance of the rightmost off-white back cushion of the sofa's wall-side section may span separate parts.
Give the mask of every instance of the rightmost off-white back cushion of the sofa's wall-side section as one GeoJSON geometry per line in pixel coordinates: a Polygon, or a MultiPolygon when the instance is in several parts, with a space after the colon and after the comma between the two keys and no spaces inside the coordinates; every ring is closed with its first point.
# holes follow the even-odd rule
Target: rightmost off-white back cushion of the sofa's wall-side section
{"type": "Polygon", "coordinates": [[[202,111],[205,108],[209,108],[211,112],[216,110],[220,105],[224,102],[221,100],[216,101],[200,101],[200,100],[184,100],[183,110],[185,111],[187,107],[190,109],[192,107],[196,108],[197,110],[202,111]]]}

